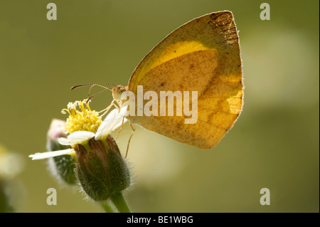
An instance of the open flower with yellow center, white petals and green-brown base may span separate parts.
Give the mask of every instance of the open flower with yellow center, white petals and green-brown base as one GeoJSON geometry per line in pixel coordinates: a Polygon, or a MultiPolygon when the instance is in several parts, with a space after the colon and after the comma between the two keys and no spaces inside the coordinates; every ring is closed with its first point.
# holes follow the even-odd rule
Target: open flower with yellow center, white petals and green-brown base
{"type": "Polygon", "coordinates": [[[70,154],[75,157],[75,174],[87,196],[94,201],[117,198],[130,185],[130,173],[110,132],[126,121],[127,106],[112,110],[103,121],[98,112],[90,110],[85,100],[69,102],[68,108],[63,109],[63,113],[66,112],[69,117],[65,132],[70,134],[57,140],[71,148],[29,157],[36,160],[70,154]]]}

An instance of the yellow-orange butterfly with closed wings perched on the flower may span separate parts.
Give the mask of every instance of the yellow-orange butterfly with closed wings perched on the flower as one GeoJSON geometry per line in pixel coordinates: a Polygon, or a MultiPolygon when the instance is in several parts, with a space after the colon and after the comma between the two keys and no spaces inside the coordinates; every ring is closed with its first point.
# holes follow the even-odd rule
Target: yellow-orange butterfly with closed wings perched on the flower
{"type": "MultiPolygon", "coordinates": [[[[186,115],[129,115],[130,125],[201,149],[218,144],[242,110],[242,63],[232,12],[206,14],[166,36],[142,59],[127,87],[112,89],[112,104],[122,106],[127,101],[121,98],[124,91],[137,97],[139,85],[158,95],[159,107],[161,91],[197,91],[198,118],[194,124],[185,124],[186,115]]],[[[144,105],[147,102],[143,100],[144,105]]]]}

